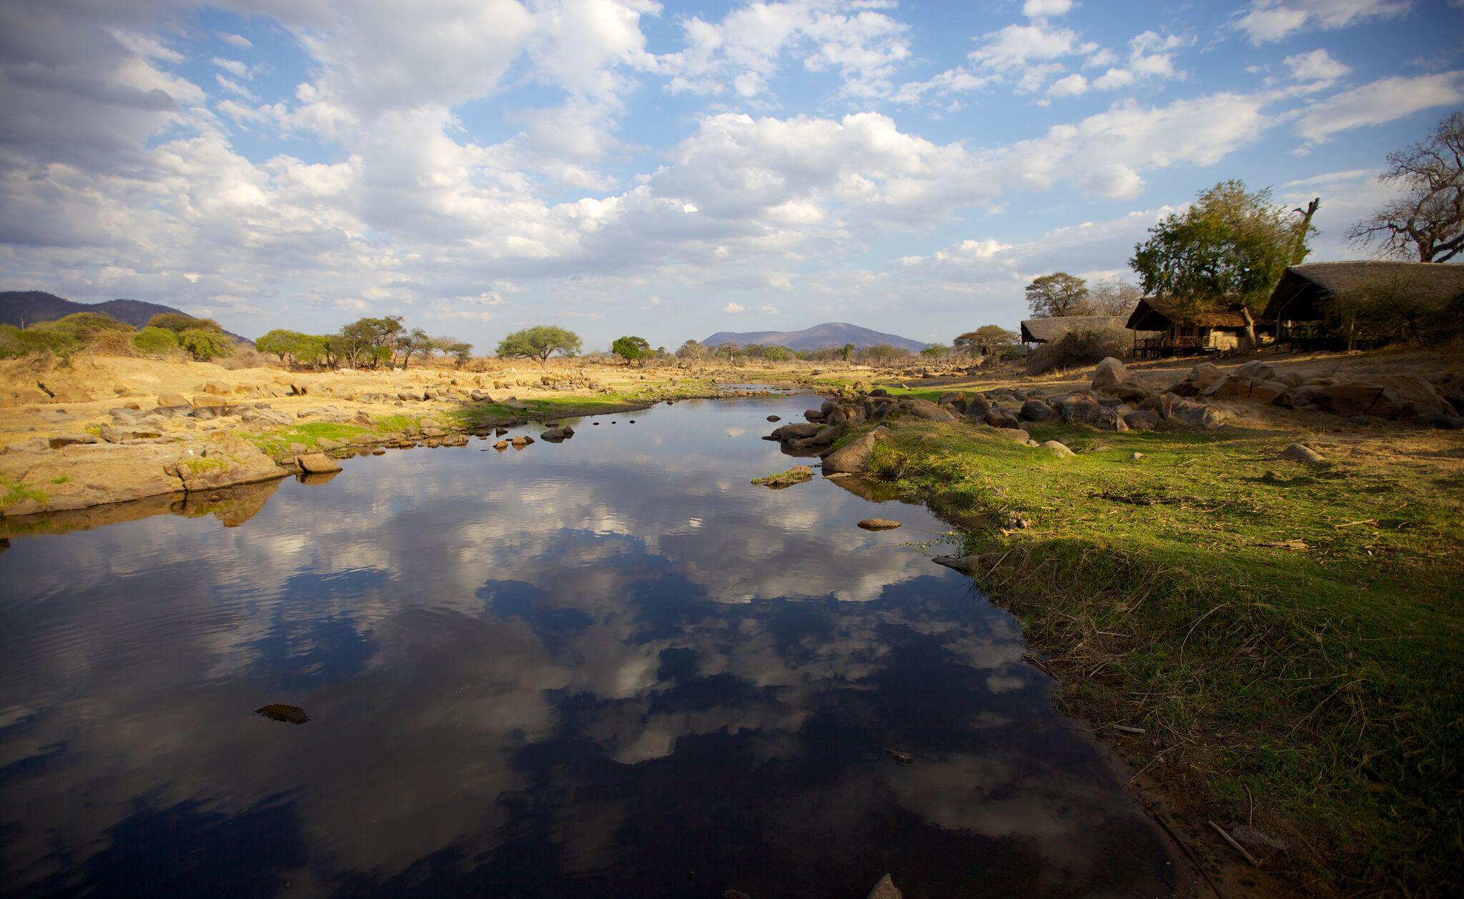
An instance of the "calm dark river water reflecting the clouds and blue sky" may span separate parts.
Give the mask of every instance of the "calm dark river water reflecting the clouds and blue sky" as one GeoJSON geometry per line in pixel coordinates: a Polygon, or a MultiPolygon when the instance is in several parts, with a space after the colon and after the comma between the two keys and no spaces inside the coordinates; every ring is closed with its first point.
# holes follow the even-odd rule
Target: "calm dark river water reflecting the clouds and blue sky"
{"type": "Polygon", "coordinates": [[[13,537],[0,892],[1170,893],[1015,622],[916,546],[938,521],[748,483],[798,461],[764,416],[807,404],[678,403],[13,537]]]}

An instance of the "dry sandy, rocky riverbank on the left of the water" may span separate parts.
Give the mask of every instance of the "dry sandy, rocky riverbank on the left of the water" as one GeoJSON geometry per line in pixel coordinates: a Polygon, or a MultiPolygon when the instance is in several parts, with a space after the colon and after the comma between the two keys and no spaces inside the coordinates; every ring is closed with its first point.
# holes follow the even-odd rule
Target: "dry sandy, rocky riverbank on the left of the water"
{"type": "Polygon", "coordinates": [[[451,445],[509,426],[745,395],[719,381],[789,372],[558,363],[302,373],[83,357],[10,362],[0,375],[0,515],[15,518],[284,477],[315,454],[451,445]]]}

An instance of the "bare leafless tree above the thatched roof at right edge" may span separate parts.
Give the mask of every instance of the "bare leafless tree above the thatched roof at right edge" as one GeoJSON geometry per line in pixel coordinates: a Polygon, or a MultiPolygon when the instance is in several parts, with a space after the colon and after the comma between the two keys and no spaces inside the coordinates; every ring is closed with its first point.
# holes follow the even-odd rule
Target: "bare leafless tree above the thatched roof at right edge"
{"type": "Polygon", "coordinates": [[[1379,242],[1383,255],[1416,255],[1419,262],[1446,262],[1464,250],[1464,113],[1388,154],[1378,180],[1401,195],[1354,224],[1350,243],[1379,242]]]}

